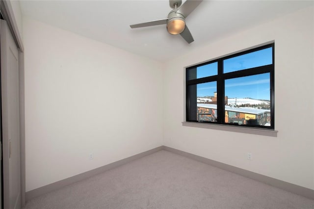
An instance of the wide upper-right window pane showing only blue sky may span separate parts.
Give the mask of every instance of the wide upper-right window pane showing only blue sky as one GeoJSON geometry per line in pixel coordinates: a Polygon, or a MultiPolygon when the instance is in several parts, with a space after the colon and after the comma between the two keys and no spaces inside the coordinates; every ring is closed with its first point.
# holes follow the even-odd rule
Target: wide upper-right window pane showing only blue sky
{"type": "Polygon", "coordinates": [[[245,70],[264,65],[270,65],[272,61],[272,47],[256,52],[235,56],[223,61],[224,73],[245,70]]]}

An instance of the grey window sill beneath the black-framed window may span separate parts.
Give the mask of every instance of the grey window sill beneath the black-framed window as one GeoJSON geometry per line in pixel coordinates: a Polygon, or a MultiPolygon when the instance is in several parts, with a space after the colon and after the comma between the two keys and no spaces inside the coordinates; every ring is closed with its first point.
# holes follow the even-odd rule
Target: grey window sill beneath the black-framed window
{"type": "Polygon", "coordinates": [[[220,125],[220,124],[208,124],[208,123],[197,123],[197,122],[182,122],[182,125],[188,126],[188,127],[213,129],[213,130],[220,130],[220,131],[233,131],[233,132],[239,132],[239,133],[250,133],[250,134],[272,136],[272,137],[277,137],[277,133],[278,133],[278,131],[275,131],[275,130],[262,129],[262,128],[244,128],[244,127],[237,127],[237,126],[226,126],[226,125],[220,125]]]}

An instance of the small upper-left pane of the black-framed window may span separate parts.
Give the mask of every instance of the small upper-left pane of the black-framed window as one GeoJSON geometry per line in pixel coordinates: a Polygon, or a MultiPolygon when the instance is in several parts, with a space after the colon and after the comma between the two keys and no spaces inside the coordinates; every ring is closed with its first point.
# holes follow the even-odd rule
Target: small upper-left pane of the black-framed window
{"type": "Polygon", "coordinates": [[[187,71],[187,79],[193,80],[197,78],[205,78],[209,76],[215,76],[218,73],[218,63],[210,63],[202,65],[200,67],[191,68],[187,71]]]}

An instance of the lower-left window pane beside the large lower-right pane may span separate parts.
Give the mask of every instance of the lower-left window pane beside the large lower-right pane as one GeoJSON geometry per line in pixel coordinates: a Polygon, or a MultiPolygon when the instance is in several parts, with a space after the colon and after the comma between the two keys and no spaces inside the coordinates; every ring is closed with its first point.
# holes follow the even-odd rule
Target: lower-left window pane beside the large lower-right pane
{"type": "Polygon", "coordinates": [[[189,114],[192,121],[217,121],[217,82],[189,85],[189,114]]]}

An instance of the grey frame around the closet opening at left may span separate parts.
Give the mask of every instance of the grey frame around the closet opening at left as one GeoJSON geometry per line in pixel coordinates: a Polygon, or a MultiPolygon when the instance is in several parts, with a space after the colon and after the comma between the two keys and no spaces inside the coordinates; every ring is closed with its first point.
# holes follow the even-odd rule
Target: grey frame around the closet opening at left
{"type": "MultiPolygon", "coordinates": [[[[20,155],[21,155],[21,206],[25,206],[26,178],[25,178],[25,82],[24,82],[24,46],[20,31],[14,16],[11,1],[0,0],[0,10],[4,20],[13,35],[19,49],[19,76],[20,76],[20,155]]],[[[2,134],[2,133],[1,133],[2,134]]],[[[3,170],[1,171],[3,174],[3,170]]],[[[4,181],[4,180],[3,180],[4,181]]],[[[1,183],[3,186],[3,182],[1,183]]],[[[3,191],[5,192],[5,191],[3,191]]],[[[3,194],[2,194],[3,195],[3,194]]],[[[3,199],[2,199],[3,200],[3,199]]],[[[4,201],[4,200],[3,200],[4,201]]],[[[2,208],[0,206],[0,208],[2,208]]]]}

